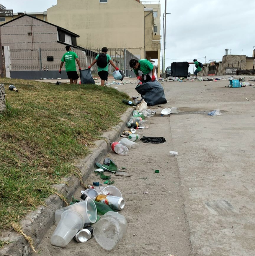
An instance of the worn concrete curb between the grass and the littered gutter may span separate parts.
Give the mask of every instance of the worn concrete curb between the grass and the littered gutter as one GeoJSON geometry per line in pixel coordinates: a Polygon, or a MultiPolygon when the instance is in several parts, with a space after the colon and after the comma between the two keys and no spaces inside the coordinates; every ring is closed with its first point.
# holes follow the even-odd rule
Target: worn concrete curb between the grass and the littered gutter
{"type": "MultiPolygon", "coordinates": [[[[95,169],[95,162],[100,162],[102,158],[110,151],[110,144],[116,141],[130,119],[133,109],[129,108],[120,118],[120,122],[112,130],[105,132],[102,135],[102,140],[95,141],[95,148],[92,148],[91,154],[86,158],[81,159],[77,166],[84,180],[95,169]]],[[[75,176],[66,179],[66,184],[55,185],[60,194],[68,197],[78,189],[80,181],[75,176]]],[[[51,195],[45,200],[45,205],[37,208],[36,211],[28,213],[21,221],[20,225],[23,232],[33,239],[34,247],[40,244],[43,236],[55,222],[54,214],[57,209],[64,206],[64,202],[57,195],[51,195]]],[[[2,239],[12,241],[11,244],[5,245],[0,250],[0,255],[3,256],[29,256],[32,249],[23,236],[15,231],[5,232],[2,239]]]]}

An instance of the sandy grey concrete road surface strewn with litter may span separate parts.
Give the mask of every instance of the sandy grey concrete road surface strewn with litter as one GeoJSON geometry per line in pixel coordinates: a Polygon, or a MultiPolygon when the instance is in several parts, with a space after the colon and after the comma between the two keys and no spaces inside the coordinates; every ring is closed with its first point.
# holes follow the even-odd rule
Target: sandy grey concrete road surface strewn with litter
{"type": "MultiPolygon", "coordinates": [[[[54,247],[53,225],[37,248],[41,255],[254,256],[255,88],[226,88],[228,84],[162,83],[168,102],[150,107],[157,113],[149,119],[150,127],[138,133],[164,137],[166,143],[138,141],[139,148],[127,156],[105,156],[130,174],[113,176],[125,199],[120,213],[128,221],[127,235],[114,250],[105,251],[95,239],[54,247]],[[181,112],[163,116],[164,107],[181,112]],[[207,115],[217,108],[223,115],[207,115]],[[171,157],[171,150],[179,155],[171,157]]],[[[138,95],[134,84],[111,87],[138,95]]],[[[102,183],[91,173],[86,183],[93,181],[102,183]]],[[[76,198],[81,190],[77,188],[76,198]]]]}

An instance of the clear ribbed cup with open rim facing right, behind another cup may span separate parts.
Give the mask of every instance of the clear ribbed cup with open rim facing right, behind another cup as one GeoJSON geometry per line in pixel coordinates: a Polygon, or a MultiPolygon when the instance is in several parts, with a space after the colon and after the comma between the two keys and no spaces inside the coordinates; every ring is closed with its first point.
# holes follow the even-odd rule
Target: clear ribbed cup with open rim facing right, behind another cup
{"type": "Polygon", "coordinates": [[[61,220],[63,212],[66,210],[74,210],[81,214],[84,223],[95,223],[97,220],[97,207],[93,199],[88,198],[85,201],[63,207],[55,211],[55,221],[58,222],[61,220]]]}

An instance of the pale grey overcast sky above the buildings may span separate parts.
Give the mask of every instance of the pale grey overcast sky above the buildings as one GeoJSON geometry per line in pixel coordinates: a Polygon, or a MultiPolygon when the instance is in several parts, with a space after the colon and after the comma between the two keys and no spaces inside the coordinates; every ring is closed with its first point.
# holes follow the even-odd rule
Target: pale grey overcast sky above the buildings
{"type": "MultiPolygon", "coordinates": [[[[160,3],[163,38],[165,0],[160,0],[160,3]]],[[[43,12],[57,4],[57,0],[0,0],[0,4],[13,9],[14,13],[43,12]]],[[[171,66],[171,62],[193,62],[194,58],[205,63],[205,56],[207,63],[221,61],[226,48],[231,54],[252,57],[255,0],[167,0],[166,12],[171,14],[166,15],[165,68],[171,66]]],[[[189,71],[193,71],[193,65],[189,71]]]]}

